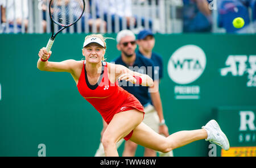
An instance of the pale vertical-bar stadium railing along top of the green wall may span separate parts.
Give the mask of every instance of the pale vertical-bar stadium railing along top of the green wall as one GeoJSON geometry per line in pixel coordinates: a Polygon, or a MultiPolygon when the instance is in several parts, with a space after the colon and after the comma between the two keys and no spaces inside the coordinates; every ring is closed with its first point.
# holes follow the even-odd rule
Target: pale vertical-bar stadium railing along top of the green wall
{"type": "MultiPolygon", "coordinates": [[[[2,5],[1,17],[5,15],[6,20],[9,20],[9,24],[6,24],[6,22],[3,22],[3,19],[1,19],[0,33],[51,32],[51,22],[48,11],[46,10],[49,5],[48,0],[18,0],[21,4],[18,6],[14,5],[17,0],[3,1],[5,5],[2,5]],[[2,12],[3,7],[5,8],[5,13],[2,12]],[[20,8],[22,8],[22,10],[20,8]],[[17,12],[19,12],[19,14],[17,12]],[[14,17],[11,19],[10,15],[14,15],[14,17]],[[18,23],[17,19],[21,20],[21,23],[18,23]]],[[[142,28],[152,28],[153,32],[159,33],[175,33],[182,31],[181,19],[177,19],[176,15],[177,10],[183,5],[182,1],[131,0],[131,2],[131,13],[137,18],[136,25],[134,25],[133,22],[130,22],[131,30],[136,32],[142,28]]],[[[123,1],[123,3],[125,3],[125,1],[123,1]]],[[[106,14],[107,17],[104,18],[102,12],[97,12],[101,7],[102,6],[97,6],[96,0],[86,0],[86,11],[84,16],[79,20],[76,26],[70,27],[69,30],[64,31],[64,33],[112,33],[127,28],[125,22],[126,18],[124,16],[119,18],[115,15],[114,20],[112,20],[112,16],[110,16],[111,14],[108,12],[108,14],[106,14]],[[90,25],[88,24],[89,19],[91,19],[90,25]],[[106,25],[104,25],[104,22],[101,22],[100,28],[97,28],[96,19],[105,19],[106,25]],[[112,22],[114,23],[112,24],[112,22]],[[122,24],[119,22],[122,22],[122,24]],[[104,26],[106,26],[106,28],[104,26]]],[[[55,28],[55,30],[57,30],[57,28],[55,28]]]]}

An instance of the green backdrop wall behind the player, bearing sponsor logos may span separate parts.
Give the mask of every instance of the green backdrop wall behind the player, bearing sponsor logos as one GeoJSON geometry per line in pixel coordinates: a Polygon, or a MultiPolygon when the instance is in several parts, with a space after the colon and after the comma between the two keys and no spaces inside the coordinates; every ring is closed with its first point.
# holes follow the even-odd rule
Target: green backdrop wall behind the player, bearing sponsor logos
{"type": "MultiPolygon", "coordinates": [[[[58,35],[50,61],[81,60],[85,36],[58,35]]],[[[115,34],[106,36],[115,37],[115,34]]],[[[46,145],[46,156],[94,156],[98,148],[101,116],[79,94],[71,75],[40,72],[36,68],[39,49],[46,46],[48,38],[48,34],[0,35],[0,156],[38,156],[39,144],[46,145]]],[[[162,54],[164,61],[164,78],[159,90],[170,133],[199,129],[208,120],[218,119],[214,115],[218,107],[256,106],[255,35],[156,35],[155,38],[154,51],[162,54]],[[175,64],[175,56],[172,61],[170,58],[185,45],[196,45],[203,50],[205,66],[191,65],[194,70],[201,69],[201,75],[191,83],[174,82],[168,68],[174,65],[181,68],[181,63],[175,64]],[[246,57],[246,61],[242,62],[240,56],[246,57]],[[235,67],[233,74],[222,72],[230,65],[235,67]],[[175,87],[197,91],[189,93],[192,96],[189,98],[188,93],[175,91],[175,87]]],[[[106,58],[111,61],[119,56],[119,51],[114,40],[107,43],[106,58]]],[[[187,58],[191,58],[191,64],[200,62],[192,53],[187,58]]],[[[252,110],[255,113],[255,108],[252,110]]],[[[234,119],[230,124],[239,124],[237,116],[234,119]]],[[[221,122],[225,122],[225,117],[221,117],[221,122]]],[[[224,132],[229,131],[225,128],[224,132]]],[[[232,144],[238,137],[228,138],[232,144]]],[[[249,146],[252,145],[256,146],[256,142],[250,141],[249,146]]],[[[193,142],[175,149],[174,155],[208,156],[208,146],[209,142],[204,140],[193,142]]],[[[139,147],[136,156],[143,156],[142,149],[139,147]]]]}

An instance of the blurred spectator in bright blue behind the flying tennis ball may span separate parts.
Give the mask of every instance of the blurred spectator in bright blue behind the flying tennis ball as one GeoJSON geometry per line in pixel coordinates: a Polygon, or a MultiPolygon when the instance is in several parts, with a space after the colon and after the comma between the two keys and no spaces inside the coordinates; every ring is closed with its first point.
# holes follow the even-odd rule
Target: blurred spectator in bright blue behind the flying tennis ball
{"type": "Polygon", "coordinates": [[[247,26],[250,24],[250,18],[249,11],[245,6],[246,4],[247,2],[245,0],[220,0],[218,2],[218,26],[225,28],[228,33],[249,30],[247,26]],[[245,26],[243,28],[238,29],[233,26],[233,20],[237,17],[245,20],[245,26]]]}

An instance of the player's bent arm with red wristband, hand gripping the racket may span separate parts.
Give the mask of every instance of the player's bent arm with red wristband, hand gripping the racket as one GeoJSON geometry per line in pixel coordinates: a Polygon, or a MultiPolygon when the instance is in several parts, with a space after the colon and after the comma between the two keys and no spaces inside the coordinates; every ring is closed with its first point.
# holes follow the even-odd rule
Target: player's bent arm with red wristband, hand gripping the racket
{"type": "Polygon", "coordinates": [[[42,61],[42,60],[48,60],[48,58],[51,56],[51,51],[48,53],[46,51],[46,48],[40,49],[38,56],[38,69],[42,71],[48,71],[48,72],[68,72],[73,73],[72,67],[76,63],[75,60],[65,60],[61,62],[49,62],[49,61],[42,61]]]}

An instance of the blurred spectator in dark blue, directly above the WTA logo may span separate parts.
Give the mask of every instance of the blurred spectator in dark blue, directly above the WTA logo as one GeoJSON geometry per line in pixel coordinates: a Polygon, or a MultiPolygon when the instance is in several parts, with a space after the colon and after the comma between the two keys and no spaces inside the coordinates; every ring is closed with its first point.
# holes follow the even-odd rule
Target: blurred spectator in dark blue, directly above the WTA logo
{"type": "Polygon", "coordinates": [[[210,32],[212,14],[207,0],[183,0],[183,32],[210,32]]]}

